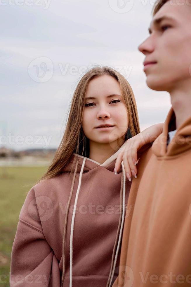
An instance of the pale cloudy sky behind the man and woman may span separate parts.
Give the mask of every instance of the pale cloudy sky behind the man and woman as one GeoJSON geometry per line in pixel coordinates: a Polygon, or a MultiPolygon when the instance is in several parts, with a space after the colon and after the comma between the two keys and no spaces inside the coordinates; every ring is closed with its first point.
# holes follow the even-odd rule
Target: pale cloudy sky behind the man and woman
{"type": "Polygon", "coordinates": [[[57,148],[81,74],[112,66],[135,93],[141,130],[164,122],[165,92],[150,90],[138,45],[153,0],[0,0],[1,146],[57,148]]]}

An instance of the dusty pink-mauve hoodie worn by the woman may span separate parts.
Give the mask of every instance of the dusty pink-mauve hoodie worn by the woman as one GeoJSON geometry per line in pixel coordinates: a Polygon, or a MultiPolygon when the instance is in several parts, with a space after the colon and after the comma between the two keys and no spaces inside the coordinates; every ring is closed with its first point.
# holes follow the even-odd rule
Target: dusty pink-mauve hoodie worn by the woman
{"type": "Polygon", "coordinates": [[[13,242],[10,287],[112,286],[131,187],[123,163],[114,174],[120,149],[103,164],[79,155],[74,161],[73,154],[61,175],[30,189],[13,242]]]}

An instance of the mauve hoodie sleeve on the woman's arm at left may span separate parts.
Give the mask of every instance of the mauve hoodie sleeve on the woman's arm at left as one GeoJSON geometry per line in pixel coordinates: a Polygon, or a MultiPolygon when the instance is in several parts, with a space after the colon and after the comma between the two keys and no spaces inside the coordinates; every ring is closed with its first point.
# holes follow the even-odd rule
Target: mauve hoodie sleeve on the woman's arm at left
{"type": "Polygon", "coordinates": [[[58,260],[44,236],[38,203],[33,187],[19,215],[11,252],[10,287],[60,287],[58,260]]]}

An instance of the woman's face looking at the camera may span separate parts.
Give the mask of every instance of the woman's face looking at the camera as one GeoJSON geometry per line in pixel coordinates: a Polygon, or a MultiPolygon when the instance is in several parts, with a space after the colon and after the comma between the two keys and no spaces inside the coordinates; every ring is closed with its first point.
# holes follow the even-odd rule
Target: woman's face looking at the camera
{"type": "Polygon", "coordinates": [[[127,110],[119,83],[112,76],[98,76],[89,82],[82,128],[87,138],[96,143],[112,143],[125,135],[127,110]],[[113,127],[97,128],[107,124],[113,127]]]}

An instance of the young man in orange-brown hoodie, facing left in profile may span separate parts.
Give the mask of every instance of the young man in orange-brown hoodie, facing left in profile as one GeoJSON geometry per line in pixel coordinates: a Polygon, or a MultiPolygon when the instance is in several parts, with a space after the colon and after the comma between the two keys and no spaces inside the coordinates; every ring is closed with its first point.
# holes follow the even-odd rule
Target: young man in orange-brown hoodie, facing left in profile
{"type": "Polygon", "coordinates": [[[141,156],[113,287],[191,286],[191,1],[157,1],[145,55],[149,88],[167,91],[162,134],[141,156]]]}

